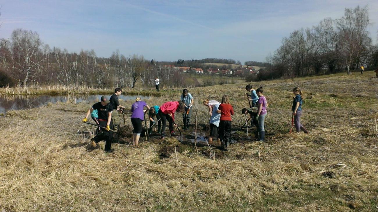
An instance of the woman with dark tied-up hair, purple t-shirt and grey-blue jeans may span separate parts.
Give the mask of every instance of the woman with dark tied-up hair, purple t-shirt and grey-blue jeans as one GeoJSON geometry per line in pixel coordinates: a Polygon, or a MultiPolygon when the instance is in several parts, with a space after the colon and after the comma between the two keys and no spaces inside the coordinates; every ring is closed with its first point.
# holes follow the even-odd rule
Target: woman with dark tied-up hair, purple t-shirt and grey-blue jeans
{"type": "Polygon", "coordinates": [[[264,122],[265,122],[265,117],[267,113],[266,107],[268,106],[268,103],[266,103],[266,98],[262,94],[262,92],[264,92],[264,90],[260,86],[260,88],[256,90],[256,94],[257,96],[259,96],[259,100],[257,101],[257,115],[255,118],[257,121],[259,121],[258,128],[257,128],[257,131],[260,132],[259,141],[265,141],[264,122]]]}

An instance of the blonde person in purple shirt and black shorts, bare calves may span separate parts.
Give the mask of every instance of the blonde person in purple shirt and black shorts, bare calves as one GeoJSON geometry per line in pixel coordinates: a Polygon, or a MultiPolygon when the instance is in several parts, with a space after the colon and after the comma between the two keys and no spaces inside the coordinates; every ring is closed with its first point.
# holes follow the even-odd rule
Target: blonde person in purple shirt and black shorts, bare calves
{"type": "MultiPolygon", "coordinates": [[[[131,105],[131,123],[134,127],[133,132],[133,143],[134,146],[138,146],[139,137],[142,133],[142,121],[144,120],[144,107],[146,107],[148,110],[150,107],[147,105],[145,101],[141,101],[140,97],[135,98],[135,102],[131,105]]],[[[146,129],[147,130],[147,129],[146,129]]]]}

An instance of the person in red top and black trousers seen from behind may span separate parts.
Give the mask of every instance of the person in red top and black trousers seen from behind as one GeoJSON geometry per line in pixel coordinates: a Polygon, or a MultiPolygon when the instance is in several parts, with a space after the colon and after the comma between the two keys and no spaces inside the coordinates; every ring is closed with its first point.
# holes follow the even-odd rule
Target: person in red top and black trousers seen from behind
{"type": "Polygon", "coordinates": [[[217,113],[220,115],[219,138],[222,143],[222,149],[227,151],[229,141],[231,140],[231,115],[234,115],[234,109],[230,104],[228,95],[223,95],[222,102],[218,107],[217,113]]]}

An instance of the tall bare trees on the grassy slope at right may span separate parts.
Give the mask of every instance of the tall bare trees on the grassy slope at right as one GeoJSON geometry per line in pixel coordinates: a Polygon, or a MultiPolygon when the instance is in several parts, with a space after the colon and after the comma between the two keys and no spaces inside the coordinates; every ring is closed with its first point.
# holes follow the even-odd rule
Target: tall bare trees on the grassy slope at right
{"type": "MultiPolygon", "coordinates": [[[[282,39],[257,80],[342,72],[378,66],[378,45],[372,44],[367,27],[368,6],[345,8],[338,19],[325,18],[317,26],[298,29],[282,39]]],[[[256,80],[256,77],[254,77],[256,80]]]]}

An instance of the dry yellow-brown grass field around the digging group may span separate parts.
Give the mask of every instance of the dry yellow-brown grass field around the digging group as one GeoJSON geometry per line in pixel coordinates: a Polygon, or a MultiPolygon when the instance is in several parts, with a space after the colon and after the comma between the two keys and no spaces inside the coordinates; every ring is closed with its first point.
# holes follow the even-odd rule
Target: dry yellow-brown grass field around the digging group
{"type": "MultiPolygon", "coordinates": [[[[0,211],[377,210],[378,78],[371,75],[253,84],[264,87],[269,104],[264,143],[240,130],[246,83],[190,89],[199,135],[208,122],[202,100],[231,96],[238,142],[228,152],[216,142],[196,149],[176,137],[142,137],[139,147],[126,138],[107,154],[87,146],[93,128],[81,120],[93,103],[10,111],[0,117],[0,211]],[[296,86],[305,92],[301,120],[310,134],[288,134],[296,86]]],[[[160,105],[180,94],[146,102],[160,105]]],[[[182,126],[180,114],[176,122],[182,126]]]]}

